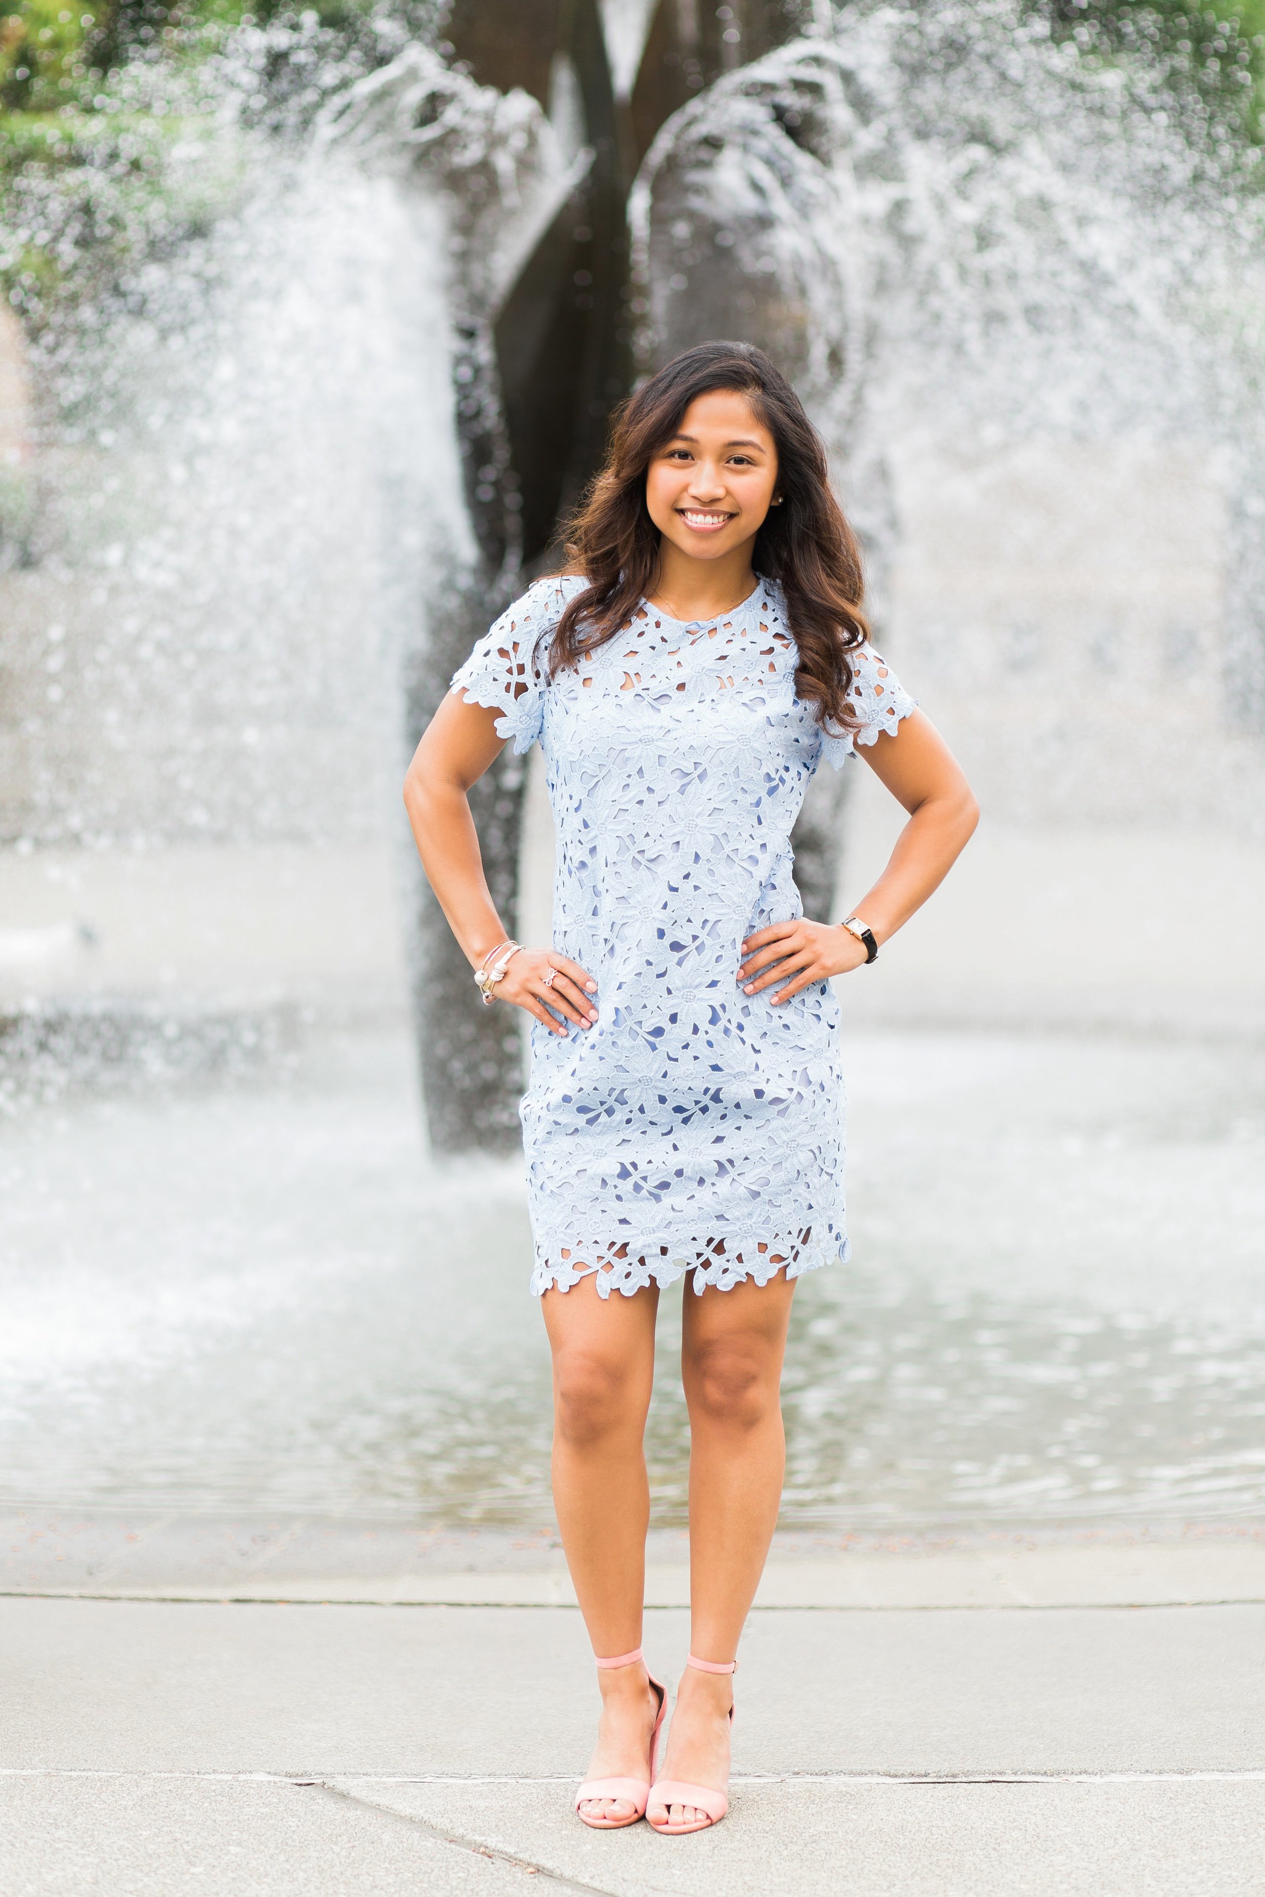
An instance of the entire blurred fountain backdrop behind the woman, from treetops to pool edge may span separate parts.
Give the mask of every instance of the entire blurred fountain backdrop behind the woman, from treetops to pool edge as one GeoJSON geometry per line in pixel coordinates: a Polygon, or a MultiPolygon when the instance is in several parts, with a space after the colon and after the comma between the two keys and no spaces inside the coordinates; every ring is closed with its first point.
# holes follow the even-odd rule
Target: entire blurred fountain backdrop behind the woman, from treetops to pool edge
{"type": "MultiPolygon", "coordinates": [[[[13,1575],[548,1548],[523,1045],[398,785],[611,406],[709,336],[793,376],[984,812],[840,985],[855,1258],[797,1296],[783,1527],[1259,1525],[1263,32],[0,0],[13,1575]]],[[[899,820],[865,768],[814,787],[810,912],[899,820]]],[[[478,821],[546,939],[535,755],[478,821]]]]}

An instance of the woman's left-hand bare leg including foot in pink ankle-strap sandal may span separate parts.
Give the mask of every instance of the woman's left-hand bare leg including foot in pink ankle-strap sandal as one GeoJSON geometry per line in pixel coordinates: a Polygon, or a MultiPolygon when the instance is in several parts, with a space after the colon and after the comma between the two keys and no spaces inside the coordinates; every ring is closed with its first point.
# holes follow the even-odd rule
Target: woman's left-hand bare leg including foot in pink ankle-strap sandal
{"type": "MultiPolygon", "coordinates": [[[[641,1645],[651,1485],[645,1417],[654,1383],[658,1286],[599,1298],[592,1280],[546,1292],[554,1351],[554,1506],[584,1626],[599,1658],[641,1645]]],[[[601,1669],[601,1722],[586,1777],[647,1777],[658,1700],[645,1666],[601,1669]]],[[[628,1817],[622,1798],[592,1815],[628,1817]]]]}

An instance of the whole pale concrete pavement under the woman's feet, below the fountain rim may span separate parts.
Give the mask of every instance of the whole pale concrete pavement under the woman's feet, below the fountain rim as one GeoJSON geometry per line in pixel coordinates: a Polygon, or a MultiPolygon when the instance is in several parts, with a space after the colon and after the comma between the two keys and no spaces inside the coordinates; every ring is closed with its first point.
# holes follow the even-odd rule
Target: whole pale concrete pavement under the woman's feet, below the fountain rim
{"type": "Polygon", "coordinates": [[[1257,1603],[757,1609],[683,1840],[571,1815],[575,1609],[9,1597],[0,1650],[6,1897],[1265,1891],[1257,1603]]]}

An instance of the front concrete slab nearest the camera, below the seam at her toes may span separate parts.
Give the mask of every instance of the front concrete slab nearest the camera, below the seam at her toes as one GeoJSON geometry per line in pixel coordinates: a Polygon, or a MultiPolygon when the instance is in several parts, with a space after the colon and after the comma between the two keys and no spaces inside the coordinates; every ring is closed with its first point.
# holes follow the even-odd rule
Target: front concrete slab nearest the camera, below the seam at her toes
{"type": "Polygon", "coordinates": [[[563,1785],[27,1779],[2,1785],[0,1800],[0,1878],[13,1897],[1240,1897],[1265,1888],[1259,1783],[759,1783],[738,1787],[724,1825],[692,1838],[656,1838],[645,1825],[586,1833],[559,1814],[563,1785]]]}

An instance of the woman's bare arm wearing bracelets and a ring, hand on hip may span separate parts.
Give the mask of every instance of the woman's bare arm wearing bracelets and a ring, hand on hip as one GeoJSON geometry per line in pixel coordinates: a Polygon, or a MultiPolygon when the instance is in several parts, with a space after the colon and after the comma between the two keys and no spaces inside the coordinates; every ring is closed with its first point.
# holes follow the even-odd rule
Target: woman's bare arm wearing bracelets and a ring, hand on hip
{"type": "MultiPolygon", "coordinates": [[[[482,967],[484,956],[506,939],[484,876],[468,802],[470,785],[478,783],[504,744],[497,736],[499,715],[449,692],[423,732],[404,778],[404,808],[417,854],[470,967],[482,967]]],[[[588,1028],[597,1019],[590,1000],[596,990],[597,983],[578,962],[554,948],[523,948],[497,983],[501,1000],[525,1007],[563,1036],[567,1021],[588,1028]],[[550,967],[558,973],[546,983],[550,967]],[[565,1021],[556,1021],[556,1015],[565,1015],[565,1021]]]]}

